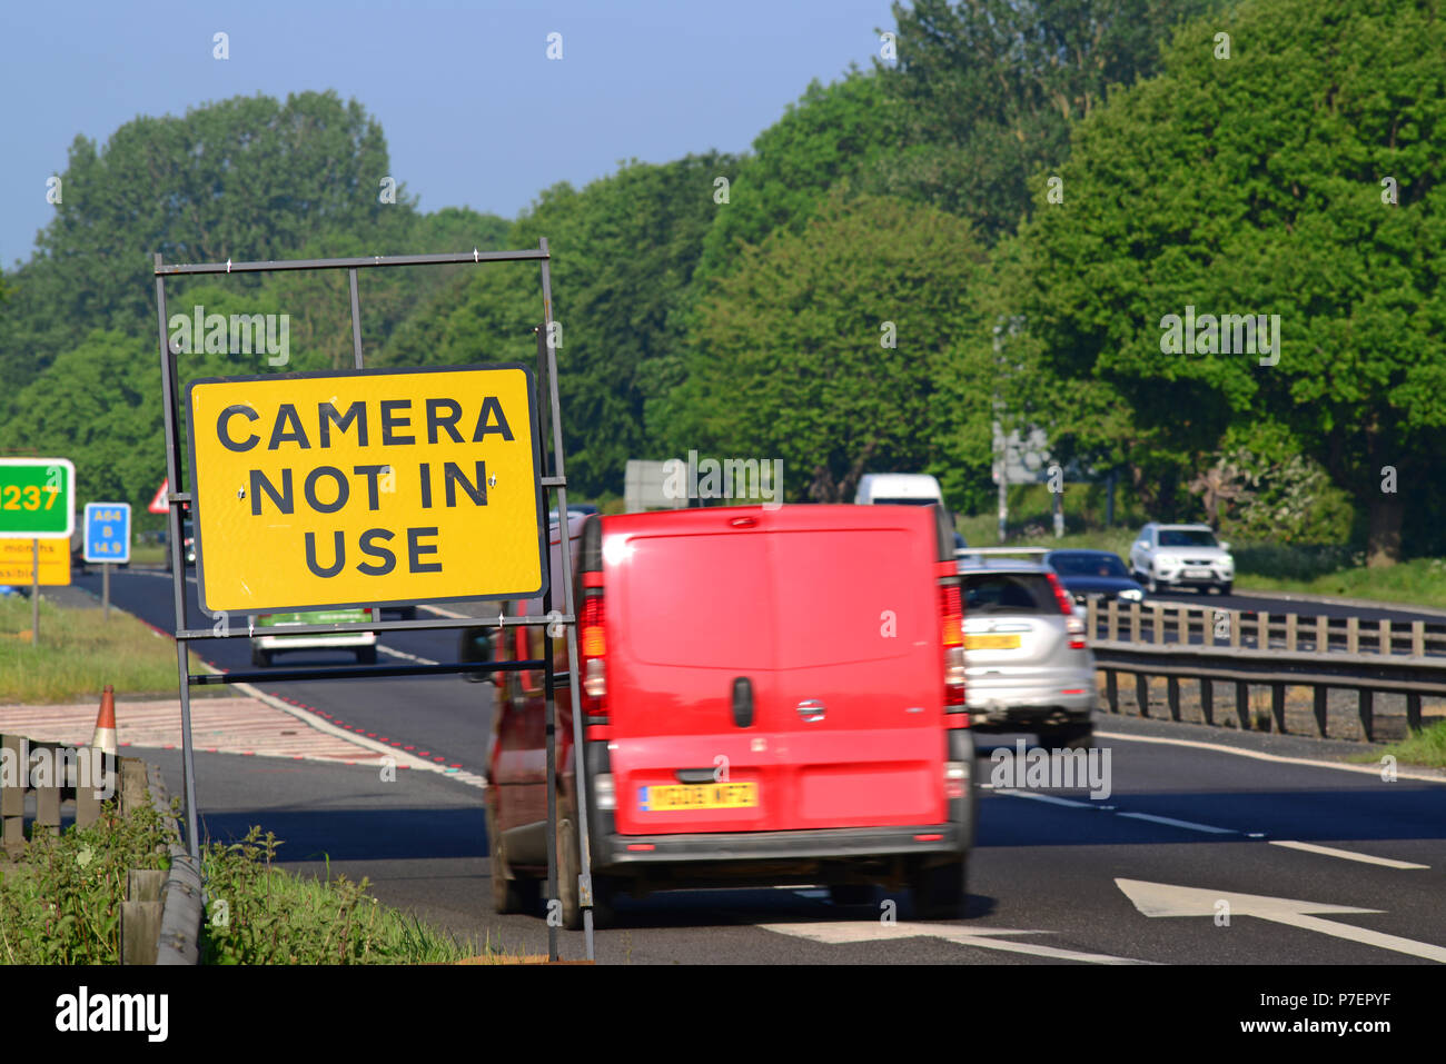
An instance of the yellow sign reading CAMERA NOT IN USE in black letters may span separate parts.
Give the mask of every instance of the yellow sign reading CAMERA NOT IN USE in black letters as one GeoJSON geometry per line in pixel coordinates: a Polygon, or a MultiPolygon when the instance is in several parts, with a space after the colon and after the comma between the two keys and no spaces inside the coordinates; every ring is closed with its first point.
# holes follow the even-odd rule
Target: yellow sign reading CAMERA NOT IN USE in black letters
{"type": "Polygon", "coordinates": [[[525,366],[197,380],[187,415],[207,612],[542,588],[525,366]]]}

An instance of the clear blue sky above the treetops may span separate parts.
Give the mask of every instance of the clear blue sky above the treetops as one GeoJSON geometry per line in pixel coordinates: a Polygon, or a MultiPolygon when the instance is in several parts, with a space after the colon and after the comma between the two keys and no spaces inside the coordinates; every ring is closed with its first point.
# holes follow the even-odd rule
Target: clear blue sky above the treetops
{"type": "Polygon", "coordinates": [[[512,218],[625,159],[748,150],[813,78],[868,66],[875,29],[894,29],[888,0],[3,3],[4,269],[49,221],[45,182],[74,137],[104,145],[139,114],[334,88],[382,123],[421,210],[512,218]]]}

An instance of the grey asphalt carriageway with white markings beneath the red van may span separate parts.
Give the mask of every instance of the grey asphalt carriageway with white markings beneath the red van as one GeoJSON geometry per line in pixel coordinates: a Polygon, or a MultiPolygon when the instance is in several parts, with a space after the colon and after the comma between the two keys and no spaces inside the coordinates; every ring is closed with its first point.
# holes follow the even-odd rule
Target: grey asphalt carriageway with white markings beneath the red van
{"type": "MultiPolygon", "coordinates": [[[[98,590],[94,577],[77,583],[98,590]]],[[[111,593],[121,607],[171,629],[168,580],[116,574],[111,593]]],[[[450,661],[454,638],[385,635],[383,646],[450,661]]],[[[218,666],[249,668],[244,639],[197,649],[218,666]]],[[[318,652],[311,661],[346,656],[318,652]]],[[[483,685],[448,677],[262,687],[482,769],[483,685]]],[[[1374,772],[1290,760],[1358,749],[1348,745],[1122,717],[1102,718],[1099,727],[1108,797],[983,791],[970,914],[962,922],[915,922],[907,892],[882,889],[857,908],[834,906],[810,885],[674,892],[623,899],[619,925],[597,934],[597,957],[635,964],[1446,963],[1446,784],[1407,775],[1385,782],[1374,772]]],[[[179,791],[179,753],[142,753],[179,791]]],[[[996,768],[983,749],[980,781],[991,784],[996,768]]],[[[382,782],[366,768],[205,753],[197,755],[197,775],[211,837],[237,837],[259,823],[286,841],[282,854],[295,870],[320,875],[330,859],[333,873],[367,876],[385,902],[458,935],[545,950],[539,917],[492,912],[477,788],[435,772],[398,772],[395,782],[382,782]]],[[[581,956],[581,934],[561,935],[564,956],[581,956]]]]}

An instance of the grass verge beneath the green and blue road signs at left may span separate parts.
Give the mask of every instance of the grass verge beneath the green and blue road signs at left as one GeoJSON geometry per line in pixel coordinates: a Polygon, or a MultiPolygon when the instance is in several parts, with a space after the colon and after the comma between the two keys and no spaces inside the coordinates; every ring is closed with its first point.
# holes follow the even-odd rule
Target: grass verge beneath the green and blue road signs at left
{"type": "MultiPolygon", "coordinates": [[[[201,672],[191,655],[191,671],[201,672]]],[[[176,692],[175,643],[111,607],[61,609],[40,600],[40,645],[30,646],[30,601],[0,598],[0,705],[98,700],[114,684],[130,695],[176,692]]]]}

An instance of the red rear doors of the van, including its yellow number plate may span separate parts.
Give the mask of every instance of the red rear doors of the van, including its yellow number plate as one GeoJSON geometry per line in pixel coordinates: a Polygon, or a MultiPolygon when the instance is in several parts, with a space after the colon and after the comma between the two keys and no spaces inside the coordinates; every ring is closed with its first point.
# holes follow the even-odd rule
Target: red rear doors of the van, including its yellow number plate
{"type": "Polygon", "coordinates": [[[928,507],[612,519],[617,830],[943,823],[937,554],[928,507]]]}

